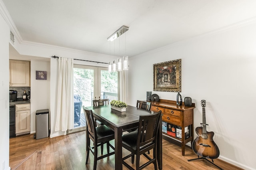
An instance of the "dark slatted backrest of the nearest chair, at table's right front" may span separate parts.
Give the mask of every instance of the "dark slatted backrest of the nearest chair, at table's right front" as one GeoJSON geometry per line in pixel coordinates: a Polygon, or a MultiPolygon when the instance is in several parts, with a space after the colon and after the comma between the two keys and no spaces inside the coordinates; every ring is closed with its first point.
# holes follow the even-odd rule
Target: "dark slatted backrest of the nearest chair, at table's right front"
{"type": "Polygon", "coordinates": [[[150,115],[140,115],[137,147],[156,142],[161,111],[150,115]]]}

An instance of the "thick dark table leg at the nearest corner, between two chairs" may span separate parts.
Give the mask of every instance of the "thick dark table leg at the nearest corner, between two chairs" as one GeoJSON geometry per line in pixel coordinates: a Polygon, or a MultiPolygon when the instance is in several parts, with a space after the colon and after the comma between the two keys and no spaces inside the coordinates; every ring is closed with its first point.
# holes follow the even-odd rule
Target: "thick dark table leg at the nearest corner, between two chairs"
{"type": "Polygon", "coordinates": [[[122,128],[115,128],[115,170],[122,170],[122,128]]]}

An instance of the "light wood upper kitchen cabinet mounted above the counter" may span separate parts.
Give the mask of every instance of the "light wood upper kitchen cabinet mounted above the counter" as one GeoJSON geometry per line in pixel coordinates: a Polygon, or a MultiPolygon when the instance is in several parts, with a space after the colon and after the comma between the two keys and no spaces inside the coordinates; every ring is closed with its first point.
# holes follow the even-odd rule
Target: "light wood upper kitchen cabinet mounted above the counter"
{"type": "Polygon", "coordinates": [[[30,87],[30,61],[9,60],[9,86],[30,87]]]}

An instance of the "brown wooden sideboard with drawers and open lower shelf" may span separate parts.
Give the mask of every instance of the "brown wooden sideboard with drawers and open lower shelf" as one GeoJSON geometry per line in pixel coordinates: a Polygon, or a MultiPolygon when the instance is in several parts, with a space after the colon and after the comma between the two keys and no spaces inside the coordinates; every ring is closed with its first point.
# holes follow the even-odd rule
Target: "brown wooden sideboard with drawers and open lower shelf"
{"type": "MultiPolygon", "coordinates": [[[[177,140],[181,141],[181,148],[182,148],[182,156],[185,154],[185,144],[188,142],[193,142],[193,122],[194,122],[194,108],[195,103],[192,103],[191,107],[187,107],[182,103],[181,106],[176,105],[176,101],[171,100],[164,100],[160,99],[158,102],[151,101],[151,111],[162,111],[162,122],[166,122],[169,125],[173,125],[173,128],[178,128],[178,131],[180,132],[181,128],[181,136],[180,133],[177,134],[177,129],[175,129],[175,132],[172,132],[170,134],[169,132],[162,132],[166,136],[170,136],[171,138],[175,138],[177,140]],[[190,128],[189,128],[190,127],[190,128]],[[189,130],[187,134],[185,133],[185,129],[189,130]],[[174,135],[175,133],[175,135],[174,135]],[[181,138],[180,138],[181,137],[181,138]]],[[[168,125],[167,125],[168,126],[168,125]]],[[[168,128],[168,127],[167,127],[168,128]]]]}

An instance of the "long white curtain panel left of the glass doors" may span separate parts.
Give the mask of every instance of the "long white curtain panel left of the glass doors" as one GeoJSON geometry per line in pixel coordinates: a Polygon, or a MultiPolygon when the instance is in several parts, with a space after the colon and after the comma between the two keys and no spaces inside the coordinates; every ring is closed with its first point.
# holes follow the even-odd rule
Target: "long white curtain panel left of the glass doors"
{"type": "Polygon", "coordinates": [[[74,124],[73,61],[59,57],[55,131],[65,132],[74,124]]]}

